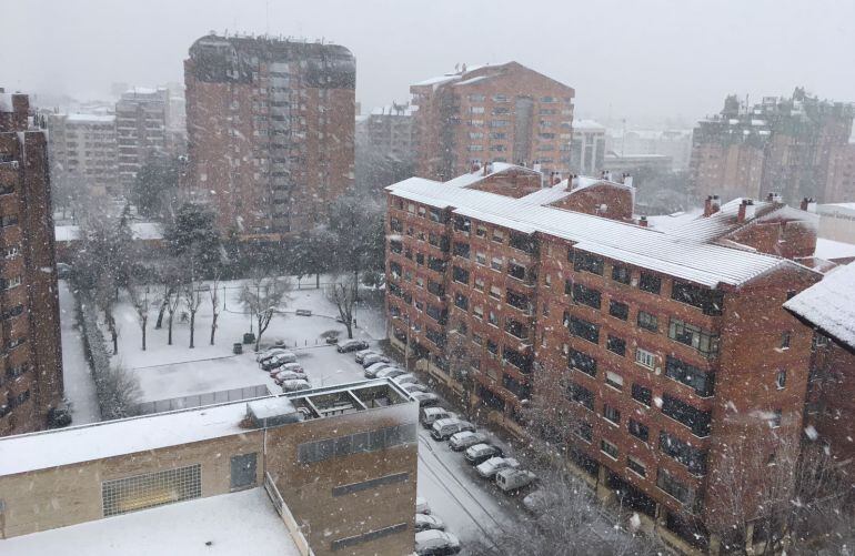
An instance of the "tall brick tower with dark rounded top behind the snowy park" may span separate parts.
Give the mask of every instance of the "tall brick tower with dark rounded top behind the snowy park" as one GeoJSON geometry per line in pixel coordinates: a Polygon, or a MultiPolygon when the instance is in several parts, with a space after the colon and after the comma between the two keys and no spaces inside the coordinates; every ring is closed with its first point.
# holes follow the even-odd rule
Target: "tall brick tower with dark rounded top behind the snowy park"
{"type": "Polygon", "coordinates": [[[341,46],[210,34],[184,61],[189,175],[223,230],[312,228],[353,182],[355,60],[341,46]]]}

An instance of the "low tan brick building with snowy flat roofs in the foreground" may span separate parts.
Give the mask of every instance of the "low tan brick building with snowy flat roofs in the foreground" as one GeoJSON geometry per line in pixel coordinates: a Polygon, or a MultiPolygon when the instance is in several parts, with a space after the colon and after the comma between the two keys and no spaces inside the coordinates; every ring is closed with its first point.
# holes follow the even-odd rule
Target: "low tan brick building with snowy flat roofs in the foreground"
{"type": "Polygon", "coordinates": [[[418,418],[379,380],[6,437],[0,553],[411,554],[418,418]]]}

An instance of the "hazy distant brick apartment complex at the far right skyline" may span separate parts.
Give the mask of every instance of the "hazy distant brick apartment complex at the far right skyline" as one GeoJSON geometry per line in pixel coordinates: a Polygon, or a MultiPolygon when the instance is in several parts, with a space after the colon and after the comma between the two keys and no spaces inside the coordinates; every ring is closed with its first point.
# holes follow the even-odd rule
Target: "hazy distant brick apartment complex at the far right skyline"
{"type": "Polygon", "coordinates": [[[725,200],[778,192],[789,203],[846,201],[835,195],[845,183],[853,114],[855,105],[819,100],[803,89],[752,107],[727,97],[722,112],[694,130],[693,189],[696,194],[717,191],[725,200]],[[842,173],[835,174],[837,168],[842,173]]]}

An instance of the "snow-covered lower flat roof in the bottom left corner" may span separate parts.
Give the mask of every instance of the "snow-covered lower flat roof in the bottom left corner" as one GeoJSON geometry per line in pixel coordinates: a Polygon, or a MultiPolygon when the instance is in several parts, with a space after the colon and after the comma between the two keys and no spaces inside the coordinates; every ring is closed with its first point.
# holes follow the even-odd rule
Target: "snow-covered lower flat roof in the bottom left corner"
{"type": "Polygon", "coordinates": [[[168,504],[0,540],[3,556],[69,552],[88,556],[300,555],[262,488],[168,504]]]}

